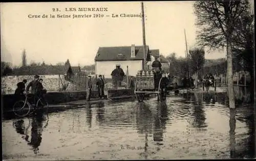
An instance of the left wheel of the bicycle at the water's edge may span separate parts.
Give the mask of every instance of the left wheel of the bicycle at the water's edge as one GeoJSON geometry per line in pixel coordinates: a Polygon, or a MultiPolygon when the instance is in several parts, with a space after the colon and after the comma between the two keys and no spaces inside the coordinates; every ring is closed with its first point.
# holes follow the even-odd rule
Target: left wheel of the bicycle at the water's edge
{"type": "Polygon", "coordinates": [[[30,105],[24,100],[19,100],[13,105],[13,113],[16,116],[24,117],[30,112],[30,105]]]}

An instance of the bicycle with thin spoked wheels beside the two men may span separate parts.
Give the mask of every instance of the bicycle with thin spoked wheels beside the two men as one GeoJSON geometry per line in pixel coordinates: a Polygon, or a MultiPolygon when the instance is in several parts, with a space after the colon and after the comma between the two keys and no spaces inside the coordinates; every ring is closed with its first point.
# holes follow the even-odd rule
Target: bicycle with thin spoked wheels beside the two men
{"type": "Polygon", "coordinates": [[[25,100],[20,99],[14,103],[13,113],[16,116],[19,116],[19,117],[27,116],[28,114],[33,113],[35,110],[38,110],[39,109],[38,107],[40,107],[40,109],[46,109],[46,110],[48,110],[49,108],[49,104],[44,98],[37,97],[37,102],[35,106],[36,109],[31,112],[31,109],[33,109],[33,107],[29,103],[28,99],[29,99],[29,96],[26,95],[25,100]]]}

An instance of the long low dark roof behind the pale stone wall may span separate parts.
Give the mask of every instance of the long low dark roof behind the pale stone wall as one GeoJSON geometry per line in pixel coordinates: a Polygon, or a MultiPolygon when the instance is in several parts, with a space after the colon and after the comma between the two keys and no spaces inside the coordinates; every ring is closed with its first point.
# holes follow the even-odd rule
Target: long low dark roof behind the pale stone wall
{"type": "Polygon", "coordinates": [[[66,66],[25,66],[15,69],[14,75],[55,75],[68,72],[66,66]]]}

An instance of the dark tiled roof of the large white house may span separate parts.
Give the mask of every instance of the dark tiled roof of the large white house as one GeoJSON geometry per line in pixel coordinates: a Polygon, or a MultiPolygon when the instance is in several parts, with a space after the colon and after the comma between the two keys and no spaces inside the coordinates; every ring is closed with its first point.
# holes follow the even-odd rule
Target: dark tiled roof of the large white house
{"type": "MultiPolygon", "coordinates": [[[[147,60],[150,59],[149,47],[146,46],[147,60]]],[[[131,46],[99,47],[95,61],[143,60],[143,46],[135,46],[135,58],[131,57],[131,46]]]]}

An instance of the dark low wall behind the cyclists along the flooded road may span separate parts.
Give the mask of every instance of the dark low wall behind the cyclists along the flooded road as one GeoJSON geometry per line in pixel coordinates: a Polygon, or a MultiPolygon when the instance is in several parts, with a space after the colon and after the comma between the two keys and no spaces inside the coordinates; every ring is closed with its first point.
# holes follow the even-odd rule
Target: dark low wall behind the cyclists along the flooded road
{"type": "MultiPolygon", "coordinates": [[[[65,103],[86,99],[86,91],[48,92],[45,98],[49,104],[65,103]]],[[[98,91],[92,91],[91,98],[98,98],[98,91]]],[[[10,110],[16,102],[14,94],[2,95],[2,109],[10,110]]]]}

